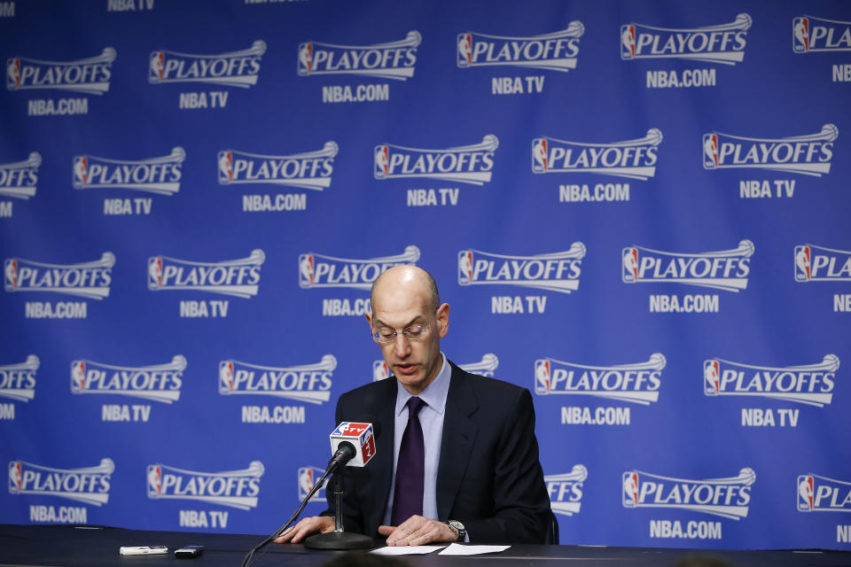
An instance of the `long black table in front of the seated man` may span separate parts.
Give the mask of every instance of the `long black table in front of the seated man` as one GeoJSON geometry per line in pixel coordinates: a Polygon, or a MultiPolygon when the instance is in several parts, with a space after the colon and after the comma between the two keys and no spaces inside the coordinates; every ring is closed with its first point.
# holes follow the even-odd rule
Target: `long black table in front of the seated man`
{"type": "MultiPolygon", "coordinates": [[[[262,535],[198,532],[143,532],[121,528],[90,528],[59,525],[0,524],[0,567],[239,567],[246,551],[263,540],[262,535]],[[168,546],[168,555],[119,555],[121,546],[168,546]],[[185,545],[205,546],[204,555],[176,559],[172,551],[185,545]]],[[[293,565],[314,567],[342,552],[315,551],[301,545],[272,544],[254,556],[253,567],[293,565]]],[[[413,567],[515,567],[555,565],[570,567],[638,567],[672,565],[685,555],[714,555],[737,567],[757,565],[851,565],[851,552],[801,552],[792,550],[700,551],[662,548],[598,548],[582,546],[512,546],[503,553],[470,556],[405,555],[413,567]]]]}

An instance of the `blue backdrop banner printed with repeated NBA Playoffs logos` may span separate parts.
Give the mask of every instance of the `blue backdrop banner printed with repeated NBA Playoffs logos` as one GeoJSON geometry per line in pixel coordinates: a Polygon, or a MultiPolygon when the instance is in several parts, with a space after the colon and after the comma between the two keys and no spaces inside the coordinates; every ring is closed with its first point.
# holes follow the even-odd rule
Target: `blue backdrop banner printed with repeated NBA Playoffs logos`
{"type": "Polygon", "coordinates": [[[12,0],[0,56],[0,523],[274,531],[416,264],[563,544],[851,549],[851,4],[12,0]]]}

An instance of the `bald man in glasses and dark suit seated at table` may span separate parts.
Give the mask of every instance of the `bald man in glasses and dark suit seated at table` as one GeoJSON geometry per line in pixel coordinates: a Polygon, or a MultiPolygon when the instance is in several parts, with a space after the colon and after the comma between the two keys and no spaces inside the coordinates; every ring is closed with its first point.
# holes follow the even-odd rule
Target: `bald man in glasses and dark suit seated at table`
{"type": "MultiPolygon", "coordinates": [[[[337,423],[371,414],[382,431],[373,461],[346,471],[346,530],[386,536],[387,545],[543,543],[550,500],[529,391],[465,372],[441,353],[449,305],[425,270],[387,270],[371,301],[366,318],[395,379],[337,403],[337,423]]],[[[333,531],[328,500],[328,516],[304,518],[276,541],[333,531]]]]}

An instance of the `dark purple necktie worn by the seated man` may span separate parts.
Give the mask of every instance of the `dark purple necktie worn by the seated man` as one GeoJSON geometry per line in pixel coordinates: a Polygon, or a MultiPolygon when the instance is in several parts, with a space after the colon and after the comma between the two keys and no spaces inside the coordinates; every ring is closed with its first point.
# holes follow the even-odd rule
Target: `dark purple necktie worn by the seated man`
{"type": "Polygon", "coordinates": [[[399,460],[396,462],[396,487],[393,492],[393,525],[402,524],[409,517],[423,515],[423,477],[426,470],[426,444],[423,426],[419,423],[419,410],[426,405],[417,396],[408,400],[408,426],[402,434],[399,460]]]}

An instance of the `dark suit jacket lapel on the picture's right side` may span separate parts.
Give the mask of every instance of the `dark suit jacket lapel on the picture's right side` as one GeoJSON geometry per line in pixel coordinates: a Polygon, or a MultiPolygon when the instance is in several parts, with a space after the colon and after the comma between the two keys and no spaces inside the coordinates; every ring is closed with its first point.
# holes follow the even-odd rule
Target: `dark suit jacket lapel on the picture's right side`
{"type": "MultiPolygon", "coordinates": [[[[450,362],[451,364],[451,362],[450,362]]],[[[447,520],[467,470],[478,426],[471,419],[479,400],[466,372],[452,364],[452,381],[446,396],[441,439],[441,462],[437,470],[438,519],[447,520]]]]}

